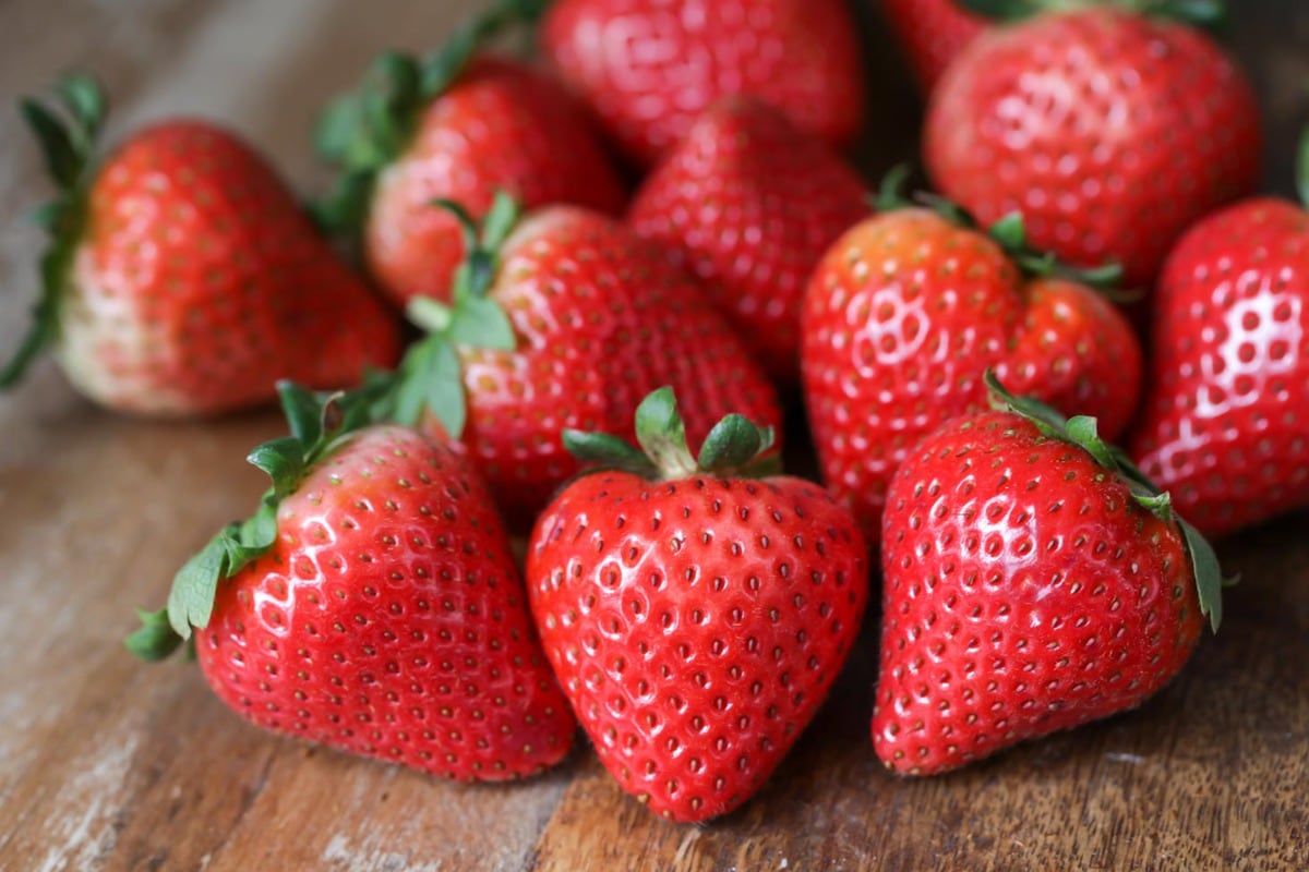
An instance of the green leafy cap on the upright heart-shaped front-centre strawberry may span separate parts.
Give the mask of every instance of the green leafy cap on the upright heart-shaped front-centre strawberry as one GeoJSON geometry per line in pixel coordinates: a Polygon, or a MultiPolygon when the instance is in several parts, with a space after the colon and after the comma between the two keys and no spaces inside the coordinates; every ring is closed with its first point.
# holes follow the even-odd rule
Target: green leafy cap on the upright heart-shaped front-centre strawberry
{"type": "Polygon", "coordinates": [[[770,455],[776,433],[744,414],[728,414],[713,425],[704,437],[699,456],[692,456],[672,387],[648,394],[636,407],[635,421],[639,448],[610,433],[571,429],[563,431],[564,447],[597,469],[617,469],[651,481],[675,481],[698,475],[758,478],[779,472],[776,458],[770,455]]]}

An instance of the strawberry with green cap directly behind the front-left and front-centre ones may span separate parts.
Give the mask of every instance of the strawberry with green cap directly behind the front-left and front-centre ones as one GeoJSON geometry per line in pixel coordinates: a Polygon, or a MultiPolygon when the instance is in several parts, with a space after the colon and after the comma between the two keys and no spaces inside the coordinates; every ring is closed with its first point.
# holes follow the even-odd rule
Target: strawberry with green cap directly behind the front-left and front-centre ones
{"type": "Polygon", "coordinates": [[[577,471],[565,428],[631,433],[649,391],[682,392],[692,441],[741,408],[780,422],[776,391],[702,289],[626,226],[576,207],[518,222],[499,197],[446,307],[420,299],[429,335],[387,378],[389,414],[458,439],[508,519],[530,527],[577,471]]]}

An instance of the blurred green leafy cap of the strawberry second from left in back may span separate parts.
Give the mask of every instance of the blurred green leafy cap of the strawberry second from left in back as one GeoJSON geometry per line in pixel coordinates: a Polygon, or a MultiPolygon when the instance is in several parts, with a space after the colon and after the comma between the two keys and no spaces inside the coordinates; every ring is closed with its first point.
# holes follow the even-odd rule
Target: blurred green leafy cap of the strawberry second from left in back
{"type": "Polygon", "coordinates": [[[548,0],[497,0],[427,58],[391,51],[373,60],[359,89],[329,103],[314,131],[318,154],[340,171],[329,193],[313,204],[318,225],[357,235],[378,173],[408,145],[423,109],[459,78],[484,44],[514,25],[533,24],[547,5],[548,0]]]}

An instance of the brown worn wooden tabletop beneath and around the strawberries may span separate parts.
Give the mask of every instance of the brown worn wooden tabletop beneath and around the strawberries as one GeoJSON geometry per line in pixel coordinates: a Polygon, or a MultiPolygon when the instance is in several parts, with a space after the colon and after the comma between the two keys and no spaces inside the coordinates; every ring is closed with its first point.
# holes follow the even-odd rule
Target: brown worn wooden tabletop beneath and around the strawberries
{"type": "MultiPolygon", "coordinates": [[[[3,0],[0,105],[77,65],[115,95],[111,132],[164,112],[224,119],[301,186],[313,109],[384,47],[436,44],[474,0],[200,4],[3,0]],[[131,13],[115,12],[131,8],[131,13]],[[384,12],[385,9],[385,12],[384,12]]],[[[1309,10],[1233,4],[1278,119],[1288,187],[1309,10]],[[1262,9],[1259,17],[1251,9],[1262,9]]],[[[873,38],[873,173],[908,156],[915,102],[873,38]]],[[[0,349],[34,294],[47,192],[0,118],[0,349]]],[[[505,787],[453,786],[267,736],[183,662],[120,647],[132,609],[262,489],[242,458],[271,414],[117,418],[43,363],[0,399],[0,869],[1293,869],[1309,868],[1309,516],[1220,545],[1245,583],[1223,633],[1141,710],[932,780],[868,740],[876,628],[774,780],[703,828],[653,818],[585,746],[505,787]]]]}

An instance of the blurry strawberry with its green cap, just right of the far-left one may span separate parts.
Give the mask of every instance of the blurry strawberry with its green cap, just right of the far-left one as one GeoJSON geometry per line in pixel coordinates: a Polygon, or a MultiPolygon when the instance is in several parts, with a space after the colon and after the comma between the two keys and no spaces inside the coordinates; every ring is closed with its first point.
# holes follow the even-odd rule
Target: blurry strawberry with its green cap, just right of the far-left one
{"type": "Polygon", "coordinates": [[[497,191],[528,207],[623,208],[622,183],[576,101],[543,72],[479,52],[531,5],[500,0],[431,58],[380,58],[360,93],[323,116],[319,149],[342,178],[321,213],[357,234],[369,272],[399,303],[449,299],[463,260],[458,221],[432,200],[478,218],[497,191]]]}

